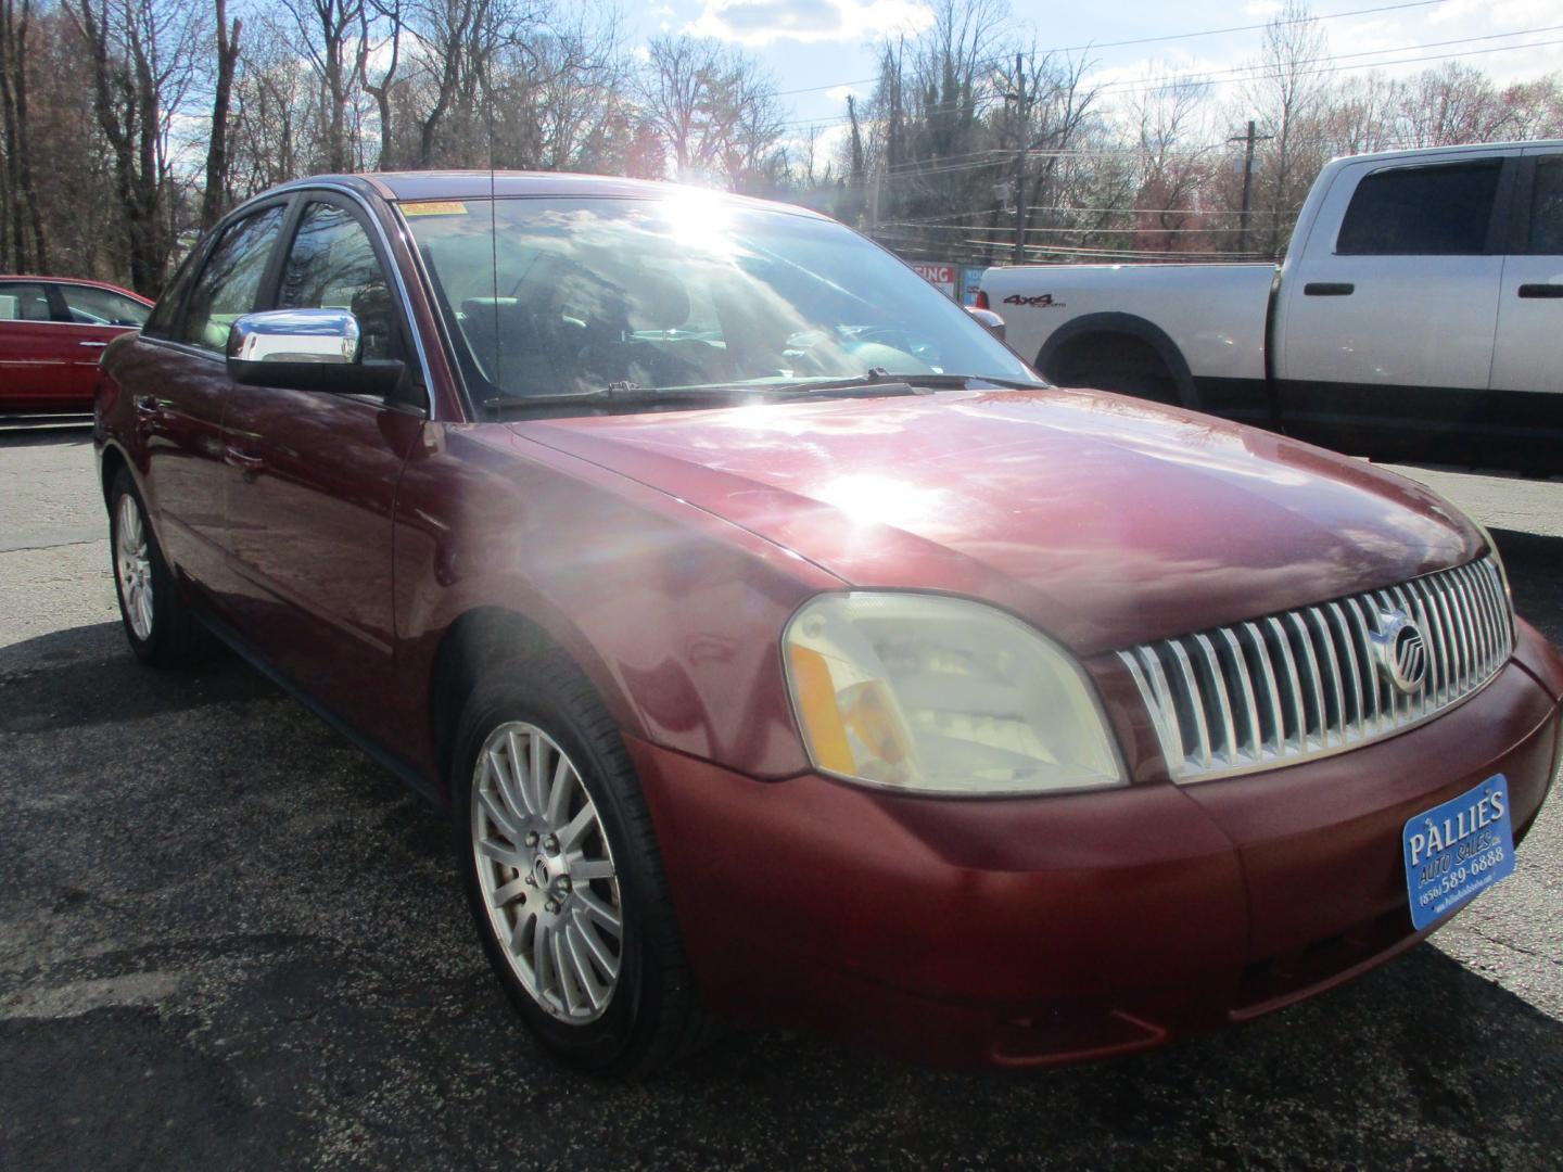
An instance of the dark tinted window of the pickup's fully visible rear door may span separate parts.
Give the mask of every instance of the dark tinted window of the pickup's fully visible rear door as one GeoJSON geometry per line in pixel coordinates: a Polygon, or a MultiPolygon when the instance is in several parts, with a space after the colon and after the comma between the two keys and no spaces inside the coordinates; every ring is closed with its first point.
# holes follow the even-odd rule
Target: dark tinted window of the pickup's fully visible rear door
{"type": "Polygon", "coordinates": [[[1486,252],[1502,159],[1396,167],[1368,175],[1335,252],[1347,256],[1471,256],[1486,252]]]}

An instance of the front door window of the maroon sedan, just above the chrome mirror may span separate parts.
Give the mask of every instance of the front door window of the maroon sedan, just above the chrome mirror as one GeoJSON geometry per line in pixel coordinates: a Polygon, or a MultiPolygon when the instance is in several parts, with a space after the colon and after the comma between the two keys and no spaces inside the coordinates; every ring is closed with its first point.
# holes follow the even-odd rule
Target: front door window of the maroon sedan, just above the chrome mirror
{"type": "Polygon", "coordinates": [[[311,203],[299,220],[277,291],[278,309],[349,309],[363,330],[364,358],[394,358],[391,286],[369,234],[352,213],[311,203]]]}

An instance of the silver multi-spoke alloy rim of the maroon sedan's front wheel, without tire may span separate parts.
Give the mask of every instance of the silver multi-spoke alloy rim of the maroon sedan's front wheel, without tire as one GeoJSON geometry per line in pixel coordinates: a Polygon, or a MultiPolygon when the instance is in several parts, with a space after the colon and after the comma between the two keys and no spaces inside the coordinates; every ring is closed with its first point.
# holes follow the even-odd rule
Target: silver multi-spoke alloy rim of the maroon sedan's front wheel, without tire
{"type": "Polygon", "coordinates": [[[561,1022],[597,1020],[622,969],[619,877],[580,770],[536,725],[502,724],[478,752],[472,855],[494,938],[527,994],[561,1022]]]}

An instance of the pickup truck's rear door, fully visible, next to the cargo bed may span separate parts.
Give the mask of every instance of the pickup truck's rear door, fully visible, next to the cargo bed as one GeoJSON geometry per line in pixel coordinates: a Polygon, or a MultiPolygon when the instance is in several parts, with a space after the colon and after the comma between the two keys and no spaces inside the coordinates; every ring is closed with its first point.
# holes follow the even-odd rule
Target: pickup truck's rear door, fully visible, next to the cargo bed
{"type": "Polygon", "coordinates": [[[1341,172],[1282,278],[1275,373],[1288,433],[1349,453],[1435,458],[1480,422],[1505,166],[1488,152],[1341,172]]]}

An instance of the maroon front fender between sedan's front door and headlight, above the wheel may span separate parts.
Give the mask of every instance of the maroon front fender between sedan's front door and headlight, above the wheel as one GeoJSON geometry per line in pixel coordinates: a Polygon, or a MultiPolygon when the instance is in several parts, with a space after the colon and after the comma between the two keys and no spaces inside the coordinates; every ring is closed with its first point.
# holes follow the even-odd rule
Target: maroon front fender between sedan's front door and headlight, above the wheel
{"type": "Polygon", "coordinates": [[[438,775],[430,688],[445,633],[522,616],[621,728],[752,777],[807,769],[782,670],[792,611],[841,583],[731,522],[500,425],[441,427],[397,495],[399,703],[438,775]]]}

